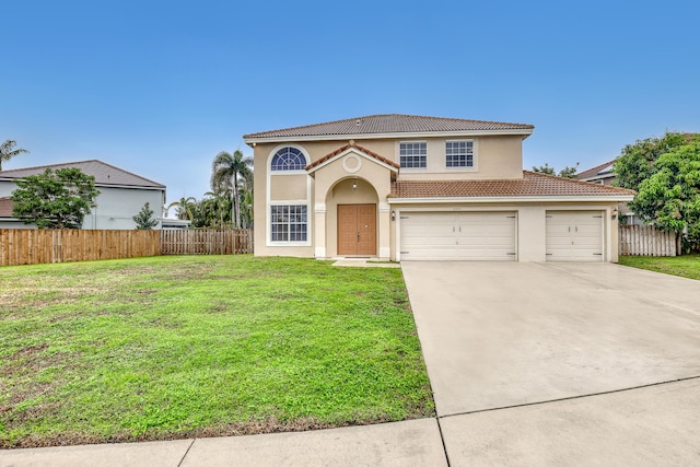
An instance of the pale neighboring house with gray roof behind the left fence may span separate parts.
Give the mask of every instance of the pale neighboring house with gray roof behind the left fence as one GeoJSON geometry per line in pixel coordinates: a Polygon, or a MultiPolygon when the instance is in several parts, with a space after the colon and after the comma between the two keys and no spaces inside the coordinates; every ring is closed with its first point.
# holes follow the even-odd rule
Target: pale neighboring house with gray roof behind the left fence
{"type": "Polygon", "coordinates": [[[75,167],[95,177],[95,186],[100,195],[95,199],[96,207],[83,221],[83,229],[95,230],[131,230],[136,229],[136,215],[145,202],[150,203],[154,214],[159,217],[161,229],[162,207],[165,202],[165,185],[141,177],[102,161],[81,161],[65,164],[43,165],[38,167],[15,168],[0,172],[0,229],[32,229],[19,219],[12,218],[10,196],[18,186],[18,178],[43,174],[47,168],[75,167]]]}

